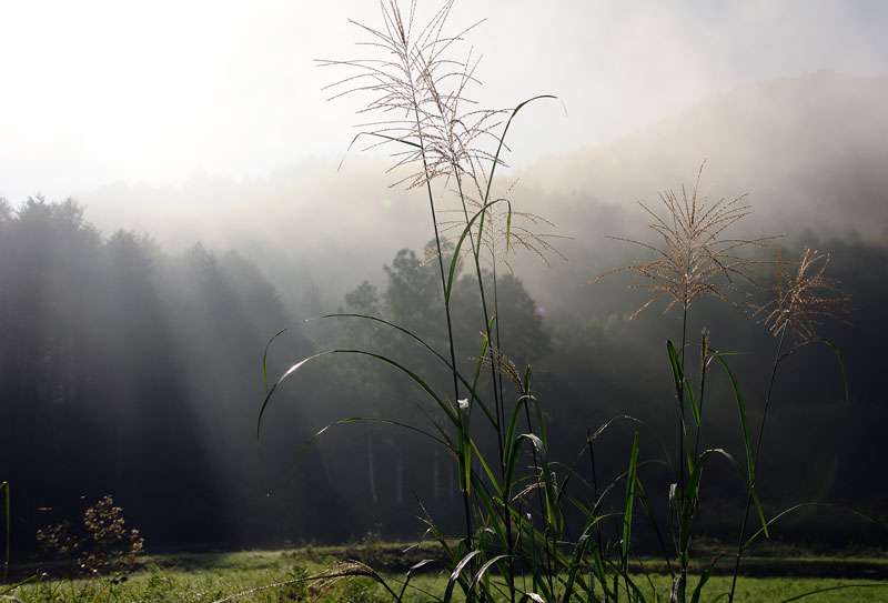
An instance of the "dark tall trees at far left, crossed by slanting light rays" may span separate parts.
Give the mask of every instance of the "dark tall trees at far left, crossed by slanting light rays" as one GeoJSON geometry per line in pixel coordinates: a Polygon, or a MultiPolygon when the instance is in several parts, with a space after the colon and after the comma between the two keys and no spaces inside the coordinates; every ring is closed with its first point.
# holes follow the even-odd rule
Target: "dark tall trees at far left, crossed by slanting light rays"
{"type": "Polygon", "coordinates": [[[274,288],[236,253],[103,238],[70,200],[1,209],[0,472],[17,544],[105,493],[149,542],[235,535],[246,489],[230,486],[258,481],[239,459],[255,456],[259,359],[287,322],[274,288]]]}

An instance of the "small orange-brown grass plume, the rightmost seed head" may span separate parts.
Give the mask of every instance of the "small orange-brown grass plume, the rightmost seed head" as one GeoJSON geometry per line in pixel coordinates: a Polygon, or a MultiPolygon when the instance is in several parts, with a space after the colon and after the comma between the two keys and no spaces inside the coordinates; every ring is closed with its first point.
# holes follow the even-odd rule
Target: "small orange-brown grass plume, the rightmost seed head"
{"type": "Polygon", "coordinates": [[[774,335],[788,329],[796,341],[809,341],[817,339],[823,319],[850,324],[845,316],[854,309],[851,298],[838,288],[839,281],[824,275],[827,264],[828,254],[807,247],[798,263],[784,260],[777,249],[774,283],[763,289],[775,297],[756,311],[774,335]]]}

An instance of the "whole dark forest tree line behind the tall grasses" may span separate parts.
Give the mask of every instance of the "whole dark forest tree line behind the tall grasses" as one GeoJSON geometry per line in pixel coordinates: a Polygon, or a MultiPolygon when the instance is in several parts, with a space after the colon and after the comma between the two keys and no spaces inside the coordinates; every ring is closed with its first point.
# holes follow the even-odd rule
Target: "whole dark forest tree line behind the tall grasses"
{"type": "MultiPolygon", "coordinates": [[[[881,385],[888,285],[880,277],[888,249],[811,234],[785,244],[803,243],[831,252],[829,272],[857,308],[854,326],[823,330],[841,350],[849,402],[827,346],[806,346],[787,362],[763,449],[761,498],[770,510],[819,500],[885,515],[888,491],[871,479],[871,466],[888,453],[880,436],[888,421],[881,385]]],[[[427,252],[400,251],[380,274],[367,275],[377,284],[367,280],[345,294],[341,311],[391,321],[444,352],[441,281],[427,260],[427,252]]],[[[485,279],[493,291],[492,273],[485,279]]],[[[532,366],[552,453],[566,462],[585,445],[587,429],[618,414],[672,432],[663,424],[674,416],[666,409],[674,400],[664,342],[676,339],[679,322],[656,310],[628,320],[636,301],[616,287],[622,283],[563,287],[559,305],[582,309],[602,295],[613,300],[597,308],[624,306],[625,313],[575,310],[544,322],[517,277],[501,273],[496,281],[502,352],[522,372],[532,366]]],[[[476,292],[474,278],[457,274],[451,305],[465,374],[474,372],[483,340],[476,292]]],[[[304,314],[287,308],[274,283],[236,252],[195,243],[170,254],[149,235],[102,235],[70,200],[29,199],[14,210],[0,201],[0,481],[12,486],[17,549],[32,549],[37,529],[74,520],[104,494],[124,509],[149,550],[342,541],[369,530],[411,537],[422,532],[417,499],[440,524],[458,521],[453,459],[403,429],[337,426],[293,468],[300,446],[341,419],[431,429],[434,404],[377,360],[313,361],[273,400],[256,440],[263,351],[290,324],[269,350],[270,379],[316,351],[361,349],[402,362],[437,391],[452,389],[441,361],[411,338],[357,318],[294,322],[304,314]]],[[[755,423],[774,338],[741,308],[695,305],[689,328],[704,325],[714,346],[743,352],[733,362],[755,423]]],[[[487,379],[483,372],[482,389],[487,379]]],[[[705,445],[739,452],[729,385],[716,375],[707,388],[716,424],[705,445]]],[[[630,432],[616,429],[601,441],[603,473],[625,471],[630,432]]],[[[643,455],[656,452],[653,441],[643,446],[643,455]]],[[[731,513],[743,492],[729,471],[714,473],[702,512],[718,534],[719,525],[736,524],[731,513]]],[[[652,498],[665,496],[668,484],[660,492],[650,480],[652,498]]],[[[814,530],[799,522],[787,534],[847,534],[833,517],[814,520],[814,530]]],[[[866,530],[858,535],[878,539],[866,530]]]]}

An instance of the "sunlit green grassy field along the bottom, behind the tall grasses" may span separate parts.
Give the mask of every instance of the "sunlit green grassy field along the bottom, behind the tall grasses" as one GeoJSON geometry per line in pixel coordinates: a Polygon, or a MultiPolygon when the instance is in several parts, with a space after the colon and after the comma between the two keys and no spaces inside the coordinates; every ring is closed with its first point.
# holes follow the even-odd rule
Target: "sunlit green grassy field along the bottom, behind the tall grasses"
{"type": "MultiPolygon", "coordinates": [[[[231,595],[262,589],[295,579],[317,575],[339,563],[360,559],[373,564],[389,582],[401,591],[406,571],[403,567],[418,559],[434,556],[431,547],[400,554],[400,545],[352,545],[352,546],[305,546],[286,551],[243,551],[236,553],[203,553],[150,556],[139,569],[125,576],[100,575],[92,579],[67,580],[41,574],[41,577],[7,593],[23,603],[27,602],[212,602],[231,595]],[[125,577],[125,579],[124,579],[125,577]]],[[[791,601],[805,592],[828,590],[801,599],[808,602],[833,601],[888,601],[888,560],[880,559],[756,559],[749,566],[768,567],[770,572],[785,572],[795,575],[768,577],[740,577],[737,586],[738,602],[791,601]],[[875,567],[878,579],[862,577],[815,577],[826,567],[844,566],[847,574],[858,571],[867,574],[867,567],[875,567]],[[838,589],[841,587],[841,589],[838,589]]],[[[747,571],[750,570],[747,567],[747,571]]],[[[649,570],[650,567],[648,567],[649,570]]],[[[637,575],[648,601],[668,601],[670,580],[668,575],[637,575]]],[[[692,580],[692,584],[696,581],[692,580]]],[[[405,602],[438,601],[447,583],[446,572],[437,569],[414,577],[405,591],[405,602]]],[[[518,585],[522,587],[521,577],[518,585]]],[[[528,585],[529,587],[529,585],[528,585]]],[[[730,576],[714,576],[703,591],[702,601],[713,601],[730,589],[730,576]]],[[[522,587],[522,590],[524,590],[522,587]]],[[[2,591],[0,591],[2,592],[2,591]]],[[[349,580],[315,580],[296,582],[243,595],[243,602],[370,602],[390,601],[391,595],[371,577],[349,580]]],[[[507,597],[503,599],[504,601],[507,597]]],[[[726,600],[723,597],[722,600],[726,600]]],[[[454,601],[463,601],[458,589],[454,601]]]]}

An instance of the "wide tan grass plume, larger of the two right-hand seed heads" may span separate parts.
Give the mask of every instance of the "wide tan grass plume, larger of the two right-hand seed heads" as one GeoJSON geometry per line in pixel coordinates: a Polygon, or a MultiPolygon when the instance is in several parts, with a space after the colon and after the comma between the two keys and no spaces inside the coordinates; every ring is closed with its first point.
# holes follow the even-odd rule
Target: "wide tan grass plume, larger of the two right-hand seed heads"
{"type": "Polygon", "coordinates": [[[654,218],[649,228],[663,239],[663,247],[635,239],[610,237],[617,241],[648,249],[654,252],[655,259],[635,261],[589,281],[595,282],[624,271],[635,272],[652,281],[632,285],[634,289],[645,289],[654,293],[652,299],[635,311],[633,318],[660,298],[669,300],[664,313],[674,305],[687,309],[690,302],[700,295],[708,294],[730,302],[724,290],[736,288],[735,278],[753,284],[756,282],[753,267],[759,262],[743,258],[738,252],[748,245],[764,247],[765,241],[774,237],[723,238],[728,228],[750,213],[750,205],[743,204],[746,194],[730,201],[722,198],[713,202],[709,191],[702,193],[699,182],[705,165],[706,160],[697,172],[697,181],[690,191],[690,198],[684,184],[680,199],[673,191],[659,193],[660,201],[667,210],[665,218],[660,218],[650,208],[639,203],[654,218]]]}

